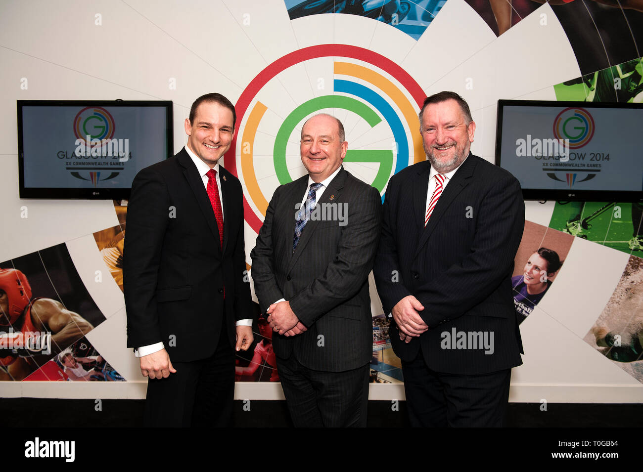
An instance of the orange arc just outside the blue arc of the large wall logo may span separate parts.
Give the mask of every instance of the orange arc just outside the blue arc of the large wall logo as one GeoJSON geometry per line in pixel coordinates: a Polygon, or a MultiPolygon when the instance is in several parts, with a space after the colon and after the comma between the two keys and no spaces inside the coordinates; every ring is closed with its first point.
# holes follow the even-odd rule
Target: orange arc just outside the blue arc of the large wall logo
{"type": "Polygon", "coordinates": [[[420,120],[417,118],[417,112],[404,96],[402,91],[385,76],[378,74],[376,71],[367,69],[367,67],[350,62],[335,62],[334,72],[340,75],[350,75],[375,85],[378,89],[385,92],[395,104],[406,119],[406,124],[413,138],[413,163],[426,160],[426,154],[422,147],[422,136],[420,135],[420,120]]]}

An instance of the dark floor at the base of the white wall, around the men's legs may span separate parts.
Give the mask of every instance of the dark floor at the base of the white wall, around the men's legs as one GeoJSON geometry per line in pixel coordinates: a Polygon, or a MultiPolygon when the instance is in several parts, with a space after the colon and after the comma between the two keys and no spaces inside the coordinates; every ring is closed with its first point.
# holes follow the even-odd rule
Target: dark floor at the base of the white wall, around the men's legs
{"type": "MultiPolygon", "coordinates": [[[[12,426],[41,427],[137,427],[142,426],[143,400],[3,398],[0,417],[12,418],[12,426]],[[99,408],[100,406],[100,408],[99,408]],[[97,411],[98,410],[98,411],[97,411]]],[[[234,426],[291,426],[285,401],[235,401],[234,426]],[[245,408],[244,408],[245,406],[245,408]]],[[[406,404],[394,410],[390,401],[368,402],[368,426],[408,426],[406,404]]],[[[635,403],[510,403],[507,426],[514,428],[640,428],[643,406],[635,403]]]]}

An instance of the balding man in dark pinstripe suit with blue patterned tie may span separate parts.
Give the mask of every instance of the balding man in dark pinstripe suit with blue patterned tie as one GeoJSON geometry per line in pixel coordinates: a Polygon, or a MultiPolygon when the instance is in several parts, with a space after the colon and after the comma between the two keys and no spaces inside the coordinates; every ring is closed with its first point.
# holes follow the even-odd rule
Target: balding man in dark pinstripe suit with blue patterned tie
{"type": "Polygon", "coordinates": [[[300,152],[308,175],[275,190],[251,253],[295,426],[367,421],[368,273],[381,199],[341,166],[347,146],[340,120],[319,114],[304,123],[300,152]]]}

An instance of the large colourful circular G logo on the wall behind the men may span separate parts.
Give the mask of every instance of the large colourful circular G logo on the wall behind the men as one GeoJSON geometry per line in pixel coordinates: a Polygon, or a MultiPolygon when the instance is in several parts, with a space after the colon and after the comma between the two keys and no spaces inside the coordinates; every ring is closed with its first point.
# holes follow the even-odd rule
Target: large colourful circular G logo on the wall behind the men
{"type": "Polygon", "coordinates": [[[417,118],[425,97],[404,69],[357,46],[322,44],[277,59],[239,97],[225,157],[243,184],[246,222],[258,232],[275,188],[305,174],[300,128],[317,112],[343,121],[347,168],[382,193],[392,174],[426,159],[417,118]]]}

